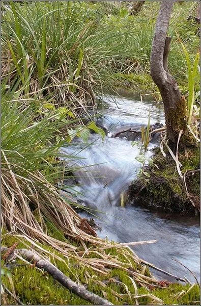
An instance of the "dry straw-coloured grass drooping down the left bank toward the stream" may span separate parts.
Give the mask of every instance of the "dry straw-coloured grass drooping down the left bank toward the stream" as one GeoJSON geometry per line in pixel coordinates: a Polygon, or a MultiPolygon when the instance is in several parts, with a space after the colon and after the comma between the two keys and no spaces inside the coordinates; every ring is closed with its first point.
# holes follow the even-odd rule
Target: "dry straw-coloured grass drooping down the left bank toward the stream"
{"type": "MultiPolygon", "coordinates": [[[[23,237],[40,250],[38,242],[50,245],[64,257],[76,258],[80,264],[91,267],[101,274],[108,274],[108,268],[121,268],[128,272],[140,286],[149,288],[150,284],[157,285],[158,281],[154,277],[148,277],[142,273],[143,264],[127,244],[111,244],[83,232],[79,228],[81,217],[60,197],[55,187],[45,181],[39,171],[29,173],[26,178],[20,177],[11,169],[4,151],[2,155],[5,163],[1,175],[1,221],[2,226],[10,233],[23,237]],[[39,220],[36,219],[31,207],[38,209],[39,220]],[[71,243],[47,235],[43,216],[67,238],[70,237],[77,241],[78,246],[75,247],[71,243]],[[89,243],[90,247],[87,246],[89,243]],[[107,254],[106,249],[111,247],[118,247],[118,253],[125,258],[125,262],[122,262],[119,257],[107,254]],[[90,253],[97,256],[95,258],[85,257],[90,253]],[[131,260],[138,264],[136,269],[132,268],[131,260]]],[[[129,243],[129,245],[152,242],[154,241],[129,243]]],[[[49,253],[43,248],[42,251],[49,253]]]]}

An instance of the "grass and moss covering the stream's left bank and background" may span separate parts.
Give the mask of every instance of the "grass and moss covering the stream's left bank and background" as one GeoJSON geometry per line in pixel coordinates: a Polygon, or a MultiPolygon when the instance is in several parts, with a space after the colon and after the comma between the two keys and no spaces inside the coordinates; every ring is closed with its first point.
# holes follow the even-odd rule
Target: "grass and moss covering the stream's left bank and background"
{"type": "MultiPolygon", "coordinates": [[[[74,199],[59,192],[73,171],[61,161],[64,143],[71,145],[76,136],[87,142],[91,130],[104,138],[95,115],[89,115],[96,113],[96,96],[120,85],[158,93],[149,68],[158,3],[145,2],[137,15],[108,2],[1,5],[2,245],[14,250],[17,242],[17,248],[35,249],[114,304],[199,304],[198,286],[156,281],[128,247],[97,238],[89,224],[86,230],[72,209],[74,199]],[[91,122],[84,125],[83,117],[91,122]]],[[[196,100],[198,118],[199,80],[188,88],[190,70],[187,76],[180,43],[189,67],[199,41],[197,24],[186,20],[190,6],[176,4],[170,32],[176,30],[179,38],[174,36],[169,67],[183,93],[196,100]]],[[[148,133],[145,137],[147,145],[148,133]]],[[[87,304],[34,264],[8,257],[2,260],[3,304],[87,304]]]]}

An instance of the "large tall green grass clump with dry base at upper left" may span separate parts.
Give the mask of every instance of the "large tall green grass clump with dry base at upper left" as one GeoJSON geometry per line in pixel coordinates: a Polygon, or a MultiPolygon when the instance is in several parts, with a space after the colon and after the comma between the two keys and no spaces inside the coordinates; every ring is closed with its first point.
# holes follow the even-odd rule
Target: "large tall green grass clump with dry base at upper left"
{"type": "Polygon", "coordinates": [[[22,88],[21,94],[29,97],[39,91],[56,108],[68,106],[76,114],[95,106],[96,91],[110,85],[107,61],[120,59],[121,34],[100,23],[100,11],[86,6],[3,5],[2,70],[3,77],[9,75],[7,86],[22,88]]]}

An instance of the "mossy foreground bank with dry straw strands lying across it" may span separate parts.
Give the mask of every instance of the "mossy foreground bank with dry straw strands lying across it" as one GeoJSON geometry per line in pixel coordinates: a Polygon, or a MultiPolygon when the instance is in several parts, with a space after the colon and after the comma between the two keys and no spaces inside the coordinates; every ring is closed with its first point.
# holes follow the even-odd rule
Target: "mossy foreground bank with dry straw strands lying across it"
{"type": "MultiPolygon", "coordinates": [[[[158,305],[162,303],[199,304],[199,288],[197,285],[183,286],[168,282],[156,284],[154,279],[150,283],[149,270],[146,266],[140,267],[136,264],[132,259],[132,253],[128,249],[126,251],[123,249],[117,250],[111,245],[105,252],[99,249],[93,252],[90,251],[89,254],[83,249],[80,251],[83,255],[82,259],[72,256],[72,254],[67,259],[65,254],[61,254],[51,246],[45,246],[34,242],[32,239],[24,239],[18,235],[13,236],[3,232],[3,245],[12,247],[16,242],[18,243],[18,248],[27,248],[34,245],[35,250],[38,250],[44,257],[48,257],[50,262],[73,281],[84,284],[88,290],[107,298],[113,304],[136,304],[136,296],[138,296],[137,301],[141,305],[148,303],[158,305]],[[104,261],[105,258],[106,260],[104,261]],[[108,270],[110,260],[114,258],[116,261],[113,261],[113,265],[108,270]],[[98,259],[100,262],[98,262],[98,259]],[[94,263],[91,267],[89,266],[90,262],[94,263]],[[122,266],[119,266],[120,262],[122,266]],[[142,278],[139,279],[135,274],[136,271],[139,271],[138,269],[143,269],[144,271],[144,276],[141,274],[142,278]],[[135,287],[135,282],[137,287],[135,287]],[[138,287],[138,284],[143,284],[143,286],[138,287]]],[[[71,242],[74,247],[77,247],[73,240],[71,242]]],[[[91,246],[88,245],[89,248],[91,246]]],[[[40,269],[36,269],[34,265],[27,263],[21,257],[14,262],[9,262],[5,259],[2,262],[2,268],[4,269],[2,277],[3,288],[4,290],[7,288],[14,295],[13,297],[5,291],[5,294],[2,295],[4,304],[16,304],[15,296],[24,304],[91,304],[71,293],[59,283],[55,283],[50,275],[40,269]],[[11,271],[11,277],[6,273],[6,269],[11,271]],[[12,284],[14,287],[12,287],[12,284]]]]}

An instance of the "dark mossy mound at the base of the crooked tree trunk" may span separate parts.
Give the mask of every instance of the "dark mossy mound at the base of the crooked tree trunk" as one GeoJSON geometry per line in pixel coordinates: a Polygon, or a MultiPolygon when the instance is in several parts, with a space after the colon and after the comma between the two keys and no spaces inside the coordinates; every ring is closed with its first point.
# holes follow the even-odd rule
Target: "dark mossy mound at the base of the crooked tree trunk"
{"type": "MultiPolygon", "coordinates": [[[[133,182],[131,200],[137,200],[143,206],[197,214],[199,211],[199,172],[197,171],[194,175],[186,175],[187,189],[196,205],[196,208],[194,208],[184,190],[175,161],[168,155],[167,151],[166,154],[166,157],[163,157],[160,150],[155,152],[153,165],[146,169],[150,177],[148,179],[142,173],[133,182]]],[[[189,148],[187,156],[184,152],[180,152],[178,157],[182,164],[183,174],[186,170],[199,168],[198,147],[189,148]]]]}

